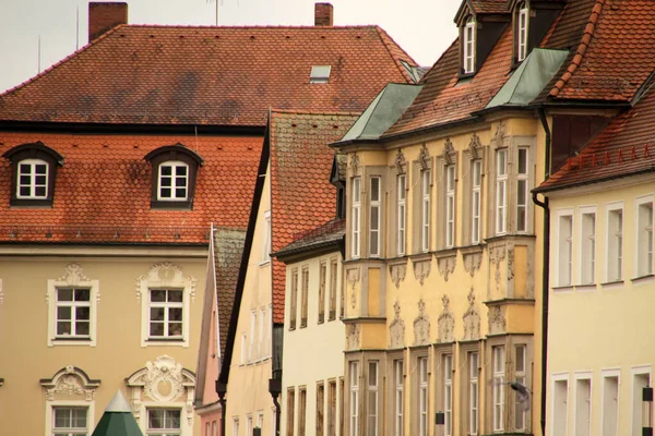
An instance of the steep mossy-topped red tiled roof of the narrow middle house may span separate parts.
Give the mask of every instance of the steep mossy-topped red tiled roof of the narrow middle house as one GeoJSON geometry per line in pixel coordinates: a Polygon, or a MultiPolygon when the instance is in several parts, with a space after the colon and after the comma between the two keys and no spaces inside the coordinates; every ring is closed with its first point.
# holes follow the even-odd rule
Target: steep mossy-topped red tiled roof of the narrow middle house
{"type": "MultiPolygon", "coordinates": [[[[334,218],[336,189],[330,183],[334,150],[355,113],[274,111],[271,116],[273,252],[294,235],[334,218]]],[[[284,323],[285,267],[273,259],[273,322],[284,323]]]]}

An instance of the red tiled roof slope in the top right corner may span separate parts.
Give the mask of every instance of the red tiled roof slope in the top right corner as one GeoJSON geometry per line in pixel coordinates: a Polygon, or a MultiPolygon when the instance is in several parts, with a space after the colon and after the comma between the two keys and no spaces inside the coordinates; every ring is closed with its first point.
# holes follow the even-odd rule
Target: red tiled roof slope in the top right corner
{"type": "Polygon", "coordinates": [[[596,0],[550,96],[630,101],[655,68],[653,7],[652,0],[596,0]]]}

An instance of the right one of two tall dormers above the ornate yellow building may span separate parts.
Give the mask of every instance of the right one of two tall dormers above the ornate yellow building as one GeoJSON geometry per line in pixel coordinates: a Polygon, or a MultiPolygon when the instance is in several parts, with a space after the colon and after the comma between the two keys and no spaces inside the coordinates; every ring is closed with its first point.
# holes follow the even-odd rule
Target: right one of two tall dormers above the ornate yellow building
{"type": "Polygon", "coordinates": [[[509,0],[512,16],[513,62],[521,63],[541,39],[558,17],[567,0],[509,0]]]}

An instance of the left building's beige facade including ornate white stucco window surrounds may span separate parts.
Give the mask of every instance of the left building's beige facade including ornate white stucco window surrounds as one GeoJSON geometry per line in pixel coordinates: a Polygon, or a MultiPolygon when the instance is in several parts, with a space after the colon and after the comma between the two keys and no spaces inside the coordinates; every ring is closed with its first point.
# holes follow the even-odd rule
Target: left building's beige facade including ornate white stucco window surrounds
{"type": "Polygon", "coordinates": [[[192,402],[205,272],[203,247],[2,249],[0,434],[50,436],[57,408],[73,408],[91,435],[120,389],[144,434],[148,410],[165,409],[179,413],[181,435],[200,435],[192,402]],[[57,335],[66,289],[91,290],[87,340],[57,335]],[[153,289],[182,291],[180,339],[148,335],[153,289]]]}

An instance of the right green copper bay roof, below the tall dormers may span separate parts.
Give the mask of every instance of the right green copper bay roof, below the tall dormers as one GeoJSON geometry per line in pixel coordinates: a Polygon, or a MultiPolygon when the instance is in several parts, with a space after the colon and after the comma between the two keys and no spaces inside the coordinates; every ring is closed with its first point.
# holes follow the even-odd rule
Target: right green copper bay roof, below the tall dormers
{"type": "Polygon", "coordinates": [[[529,104],[548,85],[568,55],[567,50],[534,49],[485,109],[529,104]]]}

